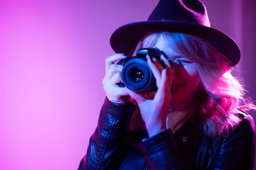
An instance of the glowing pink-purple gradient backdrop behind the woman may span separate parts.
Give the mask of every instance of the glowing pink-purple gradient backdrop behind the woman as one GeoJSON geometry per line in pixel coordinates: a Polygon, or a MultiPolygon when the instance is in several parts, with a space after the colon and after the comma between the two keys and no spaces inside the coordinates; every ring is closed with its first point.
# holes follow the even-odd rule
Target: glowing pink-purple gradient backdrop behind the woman
{"type": "MultiPolygon", "coordinates": [[[[75,170],[97,126],[105,58],[116,28],[158,0],[0,1],[0,169],[75,170]]],[[[211,26],[242,50],[256,100],[254,0],[204,0],[211,26]]],[[[255,118],[255,113],[251,113],[255,118]]]]}

